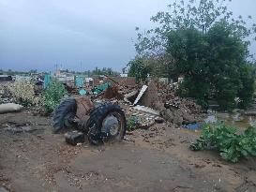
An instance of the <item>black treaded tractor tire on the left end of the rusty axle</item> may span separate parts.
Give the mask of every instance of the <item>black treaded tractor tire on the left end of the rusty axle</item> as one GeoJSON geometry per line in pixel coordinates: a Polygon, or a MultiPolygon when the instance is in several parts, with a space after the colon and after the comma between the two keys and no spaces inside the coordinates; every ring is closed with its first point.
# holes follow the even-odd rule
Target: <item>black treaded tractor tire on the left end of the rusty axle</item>
{"type": "Polygon", "coordinates": [[[68,98],[60,103],[53,112],[53,133],[62,129],[77,126],[74,119],[77,111],[77,103],[74,98],[68,98]]]}

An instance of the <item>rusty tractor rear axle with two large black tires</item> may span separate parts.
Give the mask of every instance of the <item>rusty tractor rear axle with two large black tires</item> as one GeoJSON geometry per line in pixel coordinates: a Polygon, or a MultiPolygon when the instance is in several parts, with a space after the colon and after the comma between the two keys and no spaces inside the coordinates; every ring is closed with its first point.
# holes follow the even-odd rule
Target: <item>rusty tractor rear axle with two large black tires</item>
{"type": "Polygon", "coordinates": [[[120,106],[110,102],[96,106],[89,97],[64,100],[53,113],[53,133],[74,128],[99,144],[106,140],[122,140],[126,134],[126,117],[120,106]]]}

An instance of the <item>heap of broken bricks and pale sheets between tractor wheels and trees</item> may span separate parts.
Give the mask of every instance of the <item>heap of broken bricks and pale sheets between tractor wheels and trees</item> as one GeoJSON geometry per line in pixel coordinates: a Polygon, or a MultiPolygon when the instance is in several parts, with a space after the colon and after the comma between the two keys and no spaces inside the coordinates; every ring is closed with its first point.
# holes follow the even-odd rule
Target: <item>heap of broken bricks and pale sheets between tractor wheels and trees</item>
{"type": "Polygon", "coordinates": [[[99,98],[121,104],[128,116],[128,125],[136,128],[147,129],[162,122],[161,117],[174,126],[202,123],[204,118],[201,106],[193,99],[174,96],[172,85],[156,81],[149,81],[141,88],[138,84],[125,86],[115,82],[99,98]]]}

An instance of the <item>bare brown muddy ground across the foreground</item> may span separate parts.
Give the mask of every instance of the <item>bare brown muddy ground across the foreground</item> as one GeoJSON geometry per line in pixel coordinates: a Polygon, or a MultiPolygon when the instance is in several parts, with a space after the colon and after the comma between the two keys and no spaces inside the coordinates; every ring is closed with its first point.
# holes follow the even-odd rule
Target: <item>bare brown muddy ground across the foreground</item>
{"type": "Polygon", "coordinates": [[[121,143],[66,144],[50,118],[0,114],[0,191],[256,191],[255,158],[227,163],[191,152],[198,136],[155,125],[121,143]]]}

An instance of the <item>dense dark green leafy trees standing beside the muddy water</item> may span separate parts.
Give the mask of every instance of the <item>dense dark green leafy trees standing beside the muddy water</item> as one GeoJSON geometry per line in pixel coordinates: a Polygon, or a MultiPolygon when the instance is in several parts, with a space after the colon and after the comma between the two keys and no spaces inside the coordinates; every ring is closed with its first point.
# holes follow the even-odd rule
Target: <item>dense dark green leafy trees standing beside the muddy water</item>
{"type": "Polygon", "coordinates": [[[216,22],[206,34],[198,29],[173,30],[167,52],[173,55],[175,72],[185,81],[181,96],[192,96],[203,106],[213,95],[221,110],[232,110],[235,97],[247,107],[254,92],[253,68],[249,65],[248,43],[233,32],[233,25],[216,22]]]}

